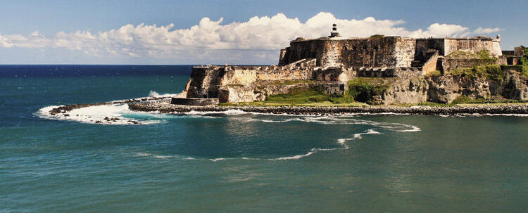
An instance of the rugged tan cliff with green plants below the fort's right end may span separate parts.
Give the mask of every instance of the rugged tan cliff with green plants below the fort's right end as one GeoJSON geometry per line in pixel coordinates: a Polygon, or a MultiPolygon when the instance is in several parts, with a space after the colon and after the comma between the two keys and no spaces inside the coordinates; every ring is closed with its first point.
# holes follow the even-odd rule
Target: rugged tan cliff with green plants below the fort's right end
{"type": "Polygon", "coordinates": [[[515,70],[505,70],[502,77],[468,77],[444,75],[399,79],[378,94],[381,104],[394,103],[451,103],[455,98],[506,98],[528,100],[528,79],[515,70]]]}

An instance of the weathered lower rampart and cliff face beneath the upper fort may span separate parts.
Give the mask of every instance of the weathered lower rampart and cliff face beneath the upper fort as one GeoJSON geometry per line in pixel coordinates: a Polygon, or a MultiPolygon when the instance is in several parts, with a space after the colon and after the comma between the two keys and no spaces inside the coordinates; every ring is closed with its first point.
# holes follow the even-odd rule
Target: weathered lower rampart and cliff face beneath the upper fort
{"type": "Polygon", "coordinates": [[[458,97],[527,101],[528,82],[522,72],[494,66],[426,76],[403,75],[413,70],[402,69],[365,72],[380,73],[367,76],[360,70],[347,69],[199,67],[191,74],[187,98],[252,102],[264,101],[270,95],[317,88],[329,96],[353,96],[353,100],[375,105],[451,103],[458,97]]]}

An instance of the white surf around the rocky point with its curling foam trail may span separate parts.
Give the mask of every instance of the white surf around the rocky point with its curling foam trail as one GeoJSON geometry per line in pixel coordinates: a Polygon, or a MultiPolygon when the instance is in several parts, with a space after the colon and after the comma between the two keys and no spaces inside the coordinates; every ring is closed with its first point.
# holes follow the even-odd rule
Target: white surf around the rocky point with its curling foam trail
{"type": "MultiPolygon", "coordinates": [[[[160,95],[156,91],[150,91],[149,96],[164,97],[171,94],[160,95]]],[[[227,110],[222,112],[198,112],[191,111],[181,114],[163,114],[160,112],[137,112],[128,108],[126,103],[108,104],[108,105],[94,105],[85,108],[78,108],[70,110],[69,112],[57,113],[52,115],[51,110],[58,108],[58,105],[47,106],[41,108],[35,115],[44,119],[50,120],[70,120],[75,122],[90,123],[90,124],[159,124],[167,122],[167,120],[187,117],[187,118],[222,118],[226,120],[233,120],[237,122],[263,122],[263,123],[287,123],[287,122],[305,122],[322,125],[366,125],[372,128],[351,135],[350,138],[338,138],[336,143],[337,148],[311,148],[308,152],[299,155],[272,157],[272,158],[253,158],[253,157],[217,157],[217,158],[194,158],[184,157],[180,155],[155,155],[151,153],[136,153],[134,157],[153,157],[156,159],[167,160],[170,158],[178,158],[184,160],[208,160],[210,162],[220,162],[224,160],[298,160],[303,157],[313,155],[318,152],[332,151],[332,150],[347,150],[349,149],[348,141],[361,140],[365,135],[382,134],[377,129],[384,129],[388,131],[399,132],[413,132],[421,131],[420,127],[410,124],[389,123],[389,122],[375,122],[372,120],[358,119],[357,115],[335,115],[335,116],[315,116],[315,115],[270,115],[256,112],[244,112],[241,110],[227,110]],[[220,115],[220,116],[219,116],[220,115]],[[225,116],[227,115],[227,116],[225,116]]]]}

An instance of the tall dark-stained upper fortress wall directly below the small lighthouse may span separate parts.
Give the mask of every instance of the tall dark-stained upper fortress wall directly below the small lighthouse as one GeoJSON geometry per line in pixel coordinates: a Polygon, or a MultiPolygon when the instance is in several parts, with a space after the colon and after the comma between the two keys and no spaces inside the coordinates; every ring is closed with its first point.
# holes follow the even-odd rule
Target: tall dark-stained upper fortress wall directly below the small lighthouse
{"type": "Polygon", "coordinates": [[[415,39],[382,37],[365,39],[312,39],[291,41],[279,65],[316,58],[320,67],[410,67],[415,39]]]}

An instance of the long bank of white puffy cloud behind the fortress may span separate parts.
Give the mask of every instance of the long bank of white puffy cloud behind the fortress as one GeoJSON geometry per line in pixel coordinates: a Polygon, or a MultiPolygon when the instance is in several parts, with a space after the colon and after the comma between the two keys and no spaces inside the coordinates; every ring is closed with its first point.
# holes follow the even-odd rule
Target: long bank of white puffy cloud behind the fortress
{"type": "Polygon", "coordinates": [[[104,32],[89,30],[58,32],[44,36],[35,31],[27,36],[0,34],[0,47],[30,49],[63,48],[82,51],[87,56],[151,57],[234,61],[240,57],[277,58],[277,50],[296,37],[318,38],[329,34],[333,23],[344,37],[368,37],[372,34],[403,37],[463,37],[489,34],[498,28],[467,27],[434,23],[426,30],[407,30],[403,20],[339,19],[332,13],[318,13],[306,22],[278,13],[272,17],[253,17],[246,22],[222,23],[202,18],[198,25],[172,30],[174,25],[124,25],[104,32]]]}

